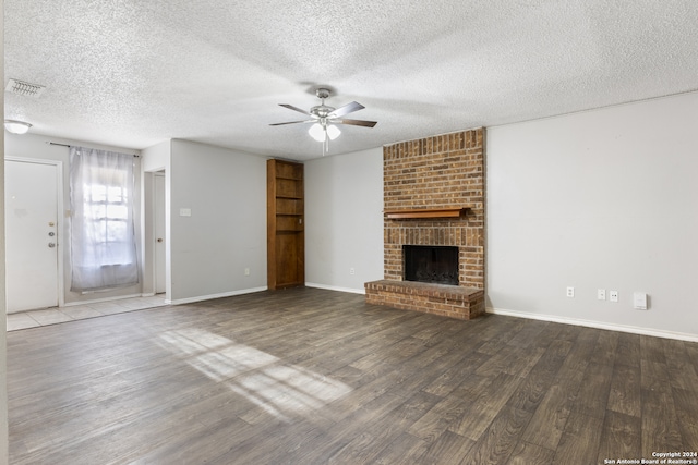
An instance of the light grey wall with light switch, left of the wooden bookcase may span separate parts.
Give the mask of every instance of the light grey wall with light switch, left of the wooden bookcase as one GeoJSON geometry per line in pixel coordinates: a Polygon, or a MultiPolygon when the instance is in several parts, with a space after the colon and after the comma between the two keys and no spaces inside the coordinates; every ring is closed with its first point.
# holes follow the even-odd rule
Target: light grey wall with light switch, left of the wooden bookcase
{"type": "Polygon", "coordinates": [[[171,301],[266,289],[266,160],[174,139],[170,163],[171,301]]]}

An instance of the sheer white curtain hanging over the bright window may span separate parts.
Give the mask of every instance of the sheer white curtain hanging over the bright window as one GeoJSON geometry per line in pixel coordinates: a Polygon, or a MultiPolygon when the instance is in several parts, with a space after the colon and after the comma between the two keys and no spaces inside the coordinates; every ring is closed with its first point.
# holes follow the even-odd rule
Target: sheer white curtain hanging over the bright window
{"type": "Polygon", "coordinates": [[[70,148],[71,291],[139,282],[133,155],[70,148]]]}

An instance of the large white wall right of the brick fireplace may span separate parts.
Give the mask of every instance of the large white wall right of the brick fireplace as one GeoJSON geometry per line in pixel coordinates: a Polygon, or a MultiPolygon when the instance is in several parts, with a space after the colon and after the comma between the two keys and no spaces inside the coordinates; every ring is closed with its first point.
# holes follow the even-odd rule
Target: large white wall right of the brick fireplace
{"type": "Polygon", "coordinates": [[[698,338],[698,94],[490,127],[486,157],[490,307],[698,338]]]}

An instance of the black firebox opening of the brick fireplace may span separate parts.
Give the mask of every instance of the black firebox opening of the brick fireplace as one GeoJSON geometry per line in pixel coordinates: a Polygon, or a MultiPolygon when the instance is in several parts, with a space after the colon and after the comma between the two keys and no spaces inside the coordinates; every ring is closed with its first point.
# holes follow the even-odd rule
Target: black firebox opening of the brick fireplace
{"type": "Polygon", "coordinates": [[[405,281],[458,285],[458,247],[404,245],[405,281]]]}

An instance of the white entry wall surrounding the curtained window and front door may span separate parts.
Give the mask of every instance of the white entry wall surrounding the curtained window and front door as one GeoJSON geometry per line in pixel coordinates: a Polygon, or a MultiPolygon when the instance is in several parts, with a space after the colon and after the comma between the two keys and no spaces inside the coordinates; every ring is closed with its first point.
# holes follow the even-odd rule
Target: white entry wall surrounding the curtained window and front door
{"type": "MultiPolygon", "coordinates": [[[[50,145],[49,142],[53,142],[57,144],[64,145],[76,145],[84,146],[91,148],[97,148],[100,150],[112,150],[122,154],[139,154],[139,150],[134,150],[131,148],[124,147],[113,147],[113,146],[104,146],[93,143],[85,143],[80,140],[72,139],[62,139],[57,137],[41,136],[35,134],[24,134],[16,135],[10,134],[7,131],[4,132],[4,156],[5,157],[19,157],[19,158],[29,158],[29,159],[39,159],[39,160],[56,160],[62,162],[63,168],[63,209],[65,215],[62,217],[59,216],[59,221],[62,222],[61,232],[59,232],[59,245],[61,244],[61,236],[69,237],[68,235],[68,215],[70,209],[70,168],[69,168],[69,148],[60,145],[50,145]]],[[[137,186],[141,184],[141,169],[140,169],[140,159],[135,159],[136,167],[134,169],[135,173],[135,185],[136,185],[136,198],[134,200],[135,205],[135,218],[136,218],[136,231],[140,231],[140,189],[137,186]]],[[[31,182],[31,181],[29,181],[31,182]]],[[[140,237],[136,237],[139,242],[139,256],[140,253],[140,237]]],[[[70,292],[70,281],[71,281],[71,271],[70,271],[70,247],[68,247],[68,241],[62,241],[62,258],[63,258],[63,287],[64,293],[63,297],[67,305],[76,304],[81,302],[89,302],[89,301],[98,301],[106,299],[125,295],[140,295],[141,294],[141,284],[129,287],[121,287],[115,291],[99,292],[99,293],[89,293],[89,294],[81,294],[76,292],[70,292]]]]}

